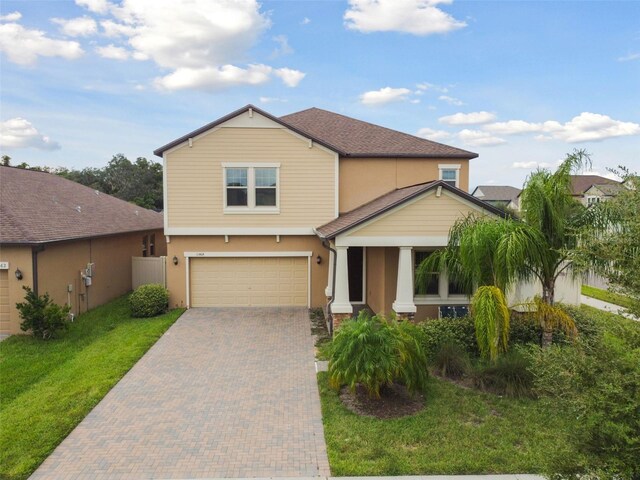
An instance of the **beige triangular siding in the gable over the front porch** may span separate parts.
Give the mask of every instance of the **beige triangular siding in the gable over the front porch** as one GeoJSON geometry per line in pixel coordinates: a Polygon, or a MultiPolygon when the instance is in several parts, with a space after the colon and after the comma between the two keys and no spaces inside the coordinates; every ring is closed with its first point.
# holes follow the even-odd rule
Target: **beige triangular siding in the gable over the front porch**
{"type": "Polygon", "coordinates": [[[456,220],[477,211],[473,207],[443,191],[400,206],[379,220],[355,230],[351,235],[368,236],[447,236],[456,220]]]}

